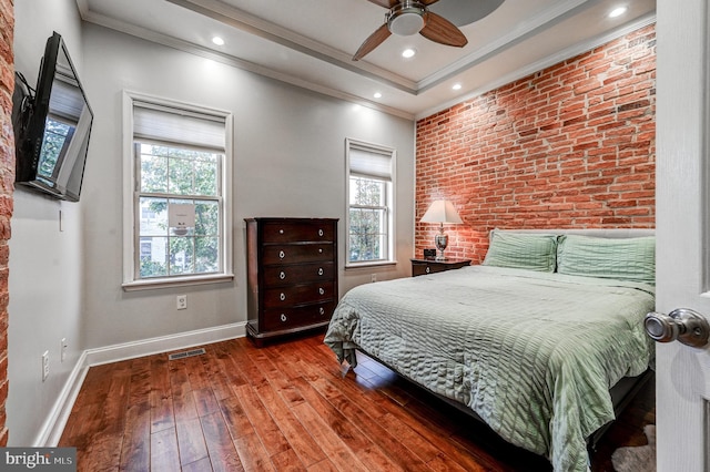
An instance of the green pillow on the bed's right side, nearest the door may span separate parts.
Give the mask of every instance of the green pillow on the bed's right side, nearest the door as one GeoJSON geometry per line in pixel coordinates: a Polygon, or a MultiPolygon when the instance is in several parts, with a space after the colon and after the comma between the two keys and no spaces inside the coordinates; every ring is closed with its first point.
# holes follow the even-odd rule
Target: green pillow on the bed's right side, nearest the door
{"type": "Polygon", "coordinates": [[[557,246],[557,271],[655,284],[656,237],[560,236],[557,246]]]}

